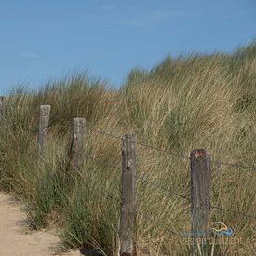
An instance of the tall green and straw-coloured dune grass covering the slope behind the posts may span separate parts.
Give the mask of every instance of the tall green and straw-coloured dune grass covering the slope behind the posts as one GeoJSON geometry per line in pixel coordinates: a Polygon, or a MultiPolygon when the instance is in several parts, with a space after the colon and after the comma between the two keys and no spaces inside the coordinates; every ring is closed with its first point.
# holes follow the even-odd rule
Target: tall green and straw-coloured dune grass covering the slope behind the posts
{"type": "MultiPolygon", "coordinates": [[[[121,173],[108,165],[120,167],[121,141],[89,128],[116,136],[133,132],[139,142],[186,156],[206,148],[213,160],[255,166],[255,85],[256,46],[251,44],[231,55],[168,57],[150,71],[132,70],[118,90],[77,73],[34,91],[17,88],[1,120],[1,186],[26,203],[32,228],[57,228],[67,248],[87,246],[116,255],[121,173]],[[40,104],[51,105],[44,158],[36,154],[40,104]],[[86,118],[85,148],[105,165],[85,158],[67,181],[74,117],[86,118]]],[[[138,254],[191,255],[179,236],[190,231],[190,205],[159,187],[190,196],[188,160],[138,145],[137,171],[143,177],[137,181],[138,254]]],[[[212,175],[212,204],[254,214],[256,173],[213,164],[212,175]]],[[[211,221],[226,223],[242,238],[241,244],[214,245],[213,255],[255,254],[255,220],[212,209],[211,221]]]]}

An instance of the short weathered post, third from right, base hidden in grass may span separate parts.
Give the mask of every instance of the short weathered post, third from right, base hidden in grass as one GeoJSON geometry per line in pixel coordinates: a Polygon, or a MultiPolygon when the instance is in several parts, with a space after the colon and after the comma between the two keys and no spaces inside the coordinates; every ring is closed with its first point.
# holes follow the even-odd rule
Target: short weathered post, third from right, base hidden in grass
{"type": "Polygon", "coordinates": [[[72,165],[75,169],[81,165],[84,153],[85,140],[85,118],[73,118],[73,131],[71,134],[71,144],[69,149],[69,167],[72,165]]]}

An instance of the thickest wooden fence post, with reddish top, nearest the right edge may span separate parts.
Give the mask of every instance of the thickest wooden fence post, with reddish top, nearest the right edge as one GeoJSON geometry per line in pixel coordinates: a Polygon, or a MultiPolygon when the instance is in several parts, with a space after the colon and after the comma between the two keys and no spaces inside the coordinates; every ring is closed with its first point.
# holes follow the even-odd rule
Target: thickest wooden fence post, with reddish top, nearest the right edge
{"type": "Polygon", "coordinates": [[[205,149],[192,150],[190,156],[192,235],[194,238],[194,255],[197,255],[199,250],[206,253],[209,250],[211,158],[209,151],[205,149]],[[197,240],[197,238],[199,239],[197,240]]]}

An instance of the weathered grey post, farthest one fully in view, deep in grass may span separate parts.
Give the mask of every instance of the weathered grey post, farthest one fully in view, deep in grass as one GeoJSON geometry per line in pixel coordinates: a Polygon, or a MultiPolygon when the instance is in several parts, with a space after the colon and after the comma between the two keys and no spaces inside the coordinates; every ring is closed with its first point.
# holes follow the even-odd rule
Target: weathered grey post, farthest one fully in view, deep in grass
{"type": "Polygon", "coordinates": [[[49,123],[50,105],[40,106],[40,120],[38,132],[38,151],[43,155],[47,147],[47,130],[49,123]]]}

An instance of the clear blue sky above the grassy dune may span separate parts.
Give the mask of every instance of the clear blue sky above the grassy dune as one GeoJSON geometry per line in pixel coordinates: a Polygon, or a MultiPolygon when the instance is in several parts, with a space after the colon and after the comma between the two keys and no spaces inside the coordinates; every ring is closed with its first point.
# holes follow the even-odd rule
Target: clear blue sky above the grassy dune
{"type": "Polygon", "coordinates": [[[255,0],[0,0],[0,93],[75,69],[118,87],[168,54],[232,51],[255,35],[255,0]]]}

